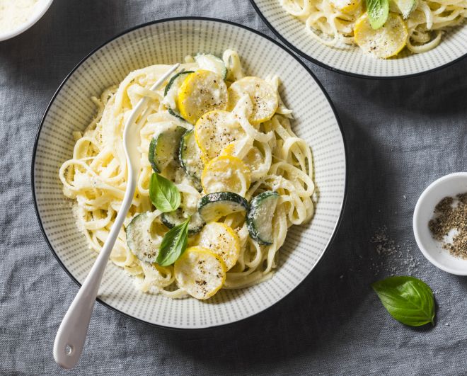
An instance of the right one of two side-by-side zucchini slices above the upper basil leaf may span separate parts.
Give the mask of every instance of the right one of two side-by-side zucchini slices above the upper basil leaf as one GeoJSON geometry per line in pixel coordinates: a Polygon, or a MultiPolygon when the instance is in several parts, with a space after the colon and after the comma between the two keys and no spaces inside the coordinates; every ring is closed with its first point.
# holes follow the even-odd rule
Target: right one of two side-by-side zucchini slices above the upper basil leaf
{"type": "Polygon", "coordinates": [[[195,139],[195,132],[188,130],[180,139],[180,149],[178,149],[178,159],[180,165],[188,176],[195,178],[201,185],[201,174],[204,164],[201,159],[201,150],[195,139]]]}

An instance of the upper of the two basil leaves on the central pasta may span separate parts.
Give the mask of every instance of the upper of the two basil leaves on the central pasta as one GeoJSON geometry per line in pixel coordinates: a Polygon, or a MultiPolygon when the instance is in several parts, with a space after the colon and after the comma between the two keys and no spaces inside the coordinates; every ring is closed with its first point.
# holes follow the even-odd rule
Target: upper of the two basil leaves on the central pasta
{"type": "Polygon", "coordinates": [[[161,212],[173,212],[180,206],[180,192],[177,187],[158,173],[151,175],[149,198],[161,212]]]}

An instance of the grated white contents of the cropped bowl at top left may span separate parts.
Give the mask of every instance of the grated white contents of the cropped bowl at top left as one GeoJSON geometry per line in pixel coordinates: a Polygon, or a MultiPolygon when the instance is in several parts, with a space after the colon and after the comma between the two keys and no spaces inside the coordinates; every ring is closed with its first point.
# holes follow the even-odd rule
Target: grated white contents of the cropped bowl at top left
{"type": "Polygon", "coordinates": [[[38,12],[45,0],[0,0],[0,33],[21,27],[38,12]]]}

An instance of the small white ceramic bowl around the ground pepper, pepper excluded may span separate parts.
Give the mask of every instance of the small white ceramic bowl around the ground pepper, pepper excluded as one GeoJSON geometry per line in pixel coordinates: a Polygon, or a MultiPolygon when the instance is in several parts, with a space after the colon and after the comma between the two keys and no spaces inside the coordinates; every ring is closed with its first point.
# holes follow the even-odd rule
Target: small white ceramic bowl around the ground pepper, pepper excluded
{"type": "Polygon", "coordinates": [[[413,233],[417,245],[430,263],[457,275],[467,275],[467,260],[451,256],[433,239],[428,222],[433,217],[434,207],[446,196],[454,197],[467,192],[467,172],[451,173],[431,183],[420,195],[413,212],[413,233]]]}

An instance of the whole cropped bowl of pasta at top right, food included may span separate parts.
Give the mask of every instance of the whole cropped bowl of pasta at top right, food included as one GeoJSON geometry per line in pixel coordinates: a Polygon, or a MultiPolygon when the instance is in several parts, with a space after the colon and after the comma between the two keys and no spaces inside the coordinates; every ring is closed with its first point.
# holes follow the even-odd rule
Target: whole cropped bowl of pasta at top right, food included
{"type": "Polygon", "coordinates": [[[413,76],[467,55],[466,0],[250,1],[292,50],[345,74],[413,76]]]}

